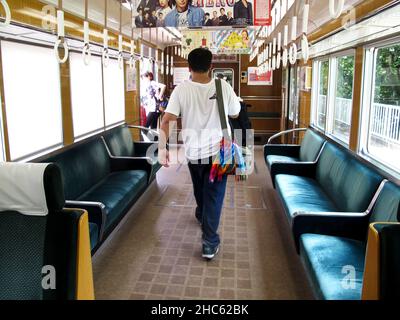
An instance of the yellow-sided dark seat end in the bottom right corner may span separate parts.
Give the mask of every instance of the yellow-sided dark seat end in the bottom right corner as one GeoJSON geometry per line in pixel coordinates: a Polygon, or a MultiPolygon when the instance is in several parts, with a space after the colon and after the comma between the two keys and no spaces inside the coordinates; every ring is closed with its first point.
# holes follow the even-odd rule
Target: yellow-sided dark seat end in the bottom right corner
{"type": "Polygon", "coordinates": [[[400,223],[376,222],[369,226],[363,278],[363,300],[400,297],[400,223]]]}

